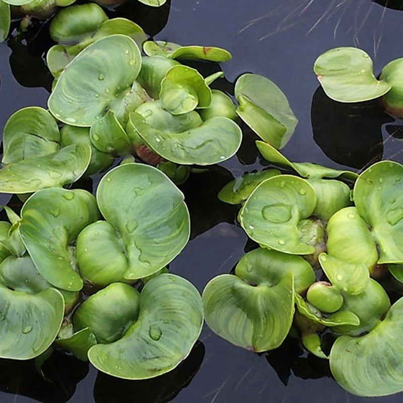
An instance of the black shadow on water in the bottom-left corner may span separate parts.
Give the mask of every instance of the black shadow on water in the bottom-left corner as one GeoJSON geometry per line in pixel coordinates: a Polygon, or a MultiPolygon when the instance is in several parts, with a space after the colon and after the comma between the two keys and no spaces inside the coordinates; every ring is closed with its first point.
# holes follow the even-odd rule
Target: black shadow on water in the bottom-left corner
{"type": "Polygon", "coordinates": [[[88,363],[55,352],[45,361],[41,371],[35,368],[34,360],[0,360],[0,390],[43,403],[64,403],[87,376],[88,363]]]}

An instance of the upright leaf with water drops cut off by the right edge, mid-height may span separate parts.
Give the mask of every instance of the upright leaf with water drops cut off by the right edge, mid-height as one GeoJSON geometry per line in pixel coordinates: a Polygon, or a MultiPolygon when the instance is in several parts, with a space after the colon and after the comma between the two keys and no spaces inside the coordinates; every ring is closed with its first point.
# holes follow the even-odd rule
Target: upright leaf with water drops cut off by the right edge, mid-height
{"type": "Polygon", "coordinates": [[[378,263],[403,263],[403,166],[381,161],[361,173],[353,197],[379,244],[378,263]]]}

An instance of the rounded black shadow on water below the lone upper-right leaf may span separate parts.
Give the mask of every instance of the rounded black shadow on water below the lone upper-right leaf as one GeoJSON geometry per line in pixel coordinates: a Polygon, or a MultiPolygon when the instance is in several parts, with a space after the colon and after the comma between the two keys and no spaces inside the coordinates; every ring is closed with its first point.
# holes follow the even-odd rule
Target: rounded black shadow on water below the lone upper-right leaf
{"type": "Polygon", "coordinates": [[[383,156],[381,127],[394,119],[384,113],[378,100],[341,103],[318,87],[312,98],[313,139],[334,162],[363,169],[383,156]]]}

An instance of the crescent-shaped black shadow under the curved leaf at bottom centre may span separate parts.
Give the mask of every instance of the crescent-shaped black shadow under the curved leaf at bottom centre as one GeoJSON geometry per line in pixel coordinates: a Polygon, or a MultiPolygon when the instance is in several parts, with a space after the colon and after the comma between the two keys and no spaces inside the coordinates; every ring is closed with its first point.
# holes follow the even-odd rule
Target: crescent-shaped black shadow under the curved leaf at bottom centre
{"type": "Polygon", "coordinates": [[[94,399],[96,403],[126,403],[136,396],[136,400],[142,403],[165,403],[172,400],[190,383],[200,368],[204,356],[204,344],[198,341],[181,364],[157,378],[130,381],[98,372],[94,399]]]}

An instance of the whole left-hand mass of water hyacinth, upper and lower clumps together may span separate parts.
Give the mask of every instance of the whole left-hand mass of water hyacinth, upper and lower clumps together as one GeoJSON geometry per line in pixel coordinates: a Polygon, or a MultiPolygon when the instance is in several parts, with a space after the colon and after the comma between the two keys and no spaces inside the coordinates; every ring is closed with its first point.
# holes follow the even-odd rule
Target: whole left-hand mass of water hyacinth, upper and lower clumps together
{"type": "Polygon", "coordinates": [[[26,201],[0,223],[0,357],[56,345],[119,378],[155,377],[189,354],[204,321],[197,290],[166,273],[190,234],[168,176],[234,155],[238,116],[277,148],[297,119],[264,77],[241,76],[236,105],[210,88],[222,72],[204,78],[177,60],[226,61],[225,49],[147,41],[93,3],[64,8],[49,29],[49,109],[15,112],[3,133],[0,192],[26,201]],[[121,157],[96,198],[63,188],[121,157]]]}

